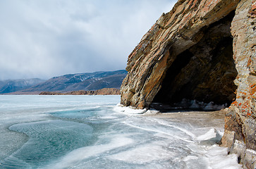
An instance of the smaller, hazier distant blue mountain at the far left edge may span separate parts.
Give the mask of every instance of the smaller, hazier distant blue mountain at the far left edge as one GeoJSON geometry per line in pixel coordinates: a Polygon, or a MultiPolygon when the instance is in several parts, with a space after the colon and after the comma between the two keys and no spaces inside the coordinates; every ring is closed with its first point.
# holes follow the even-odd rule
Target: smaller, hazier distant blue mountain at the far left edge
{"type": "Polygon", "coordinates": [[[22,89],[28,89],[36,84],[45,82],[38,78],[20,79],[20,80],[3,80],[0,81],[0,94],[16,92],[22,89]]]}

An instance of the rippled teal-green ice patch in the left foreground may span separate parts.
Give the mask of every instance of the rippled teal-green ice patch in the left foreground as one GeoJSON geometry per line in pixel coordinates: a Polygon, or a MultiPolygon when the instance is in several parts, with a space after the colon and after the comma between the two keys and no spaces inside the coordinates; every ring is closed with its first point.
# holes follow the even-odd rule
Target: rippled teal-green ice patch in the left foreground
{"type": "Polygon", "coordinates": [[[16,166],[16,161],[19,159],[25,162],[27,167],[47,164],[68,151],[89,145],[93,132],[90,125],[63,120],[20,123],[9,128],[27,134],[29,140],[1,163],[11,163],[16,166]]]}

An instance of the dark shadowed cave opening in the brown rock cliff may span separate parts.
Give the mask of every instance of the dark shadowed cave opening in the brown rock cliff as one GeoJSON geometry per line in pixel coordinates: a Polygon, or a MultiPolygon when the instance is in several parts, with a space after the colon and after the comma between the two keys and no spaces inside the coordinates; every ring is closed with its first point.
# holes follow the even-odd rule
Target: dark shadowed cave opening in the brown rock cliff
{"type": "Polygon", "coordinates": [[[214,104],[231,104],[236,98],[237,87],[233,80],[238,74],[230,30],[233,16],[234,12],[203,27],[204,36],[200,42],[176,56],[151,107],[159,109],[169,105],[171,108],[201,109],[209,104],[212,108],[214,104]]]}

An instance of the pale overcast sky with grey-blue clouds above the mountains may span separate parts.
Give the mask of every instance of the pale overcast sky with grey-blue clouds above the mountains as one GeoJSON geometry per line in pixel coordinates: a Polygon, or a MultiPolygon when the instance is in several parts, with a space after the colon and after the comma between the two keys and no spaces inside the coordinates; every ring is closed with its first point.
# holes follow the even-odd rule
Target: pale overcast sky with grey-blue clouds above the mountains
{"type": "Polygon", "coordinates": [[[1,0],[0,80],[126,68],[176,0],[1,0]]]}

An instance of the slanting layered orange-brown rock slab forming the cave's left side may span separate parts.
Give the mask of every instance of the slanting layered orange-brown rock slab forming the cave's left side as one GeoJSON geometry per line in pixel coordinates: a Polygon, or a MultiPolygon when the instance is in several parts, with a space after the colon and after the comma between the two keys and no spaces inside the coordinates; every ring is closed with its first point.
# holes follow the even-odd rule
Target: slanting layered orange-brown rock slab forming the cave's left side
{"type": "MultiPolygon", "coordinates": [[[[128,56],[121,104],[135,108],[150,106],[177,56],[200,42],[205,30],[234,11],[238,2],[183,0],[169,13],[161,15],[128,56]]],[[[204,64],[202,59],[200,62],[204,64]]]]}

